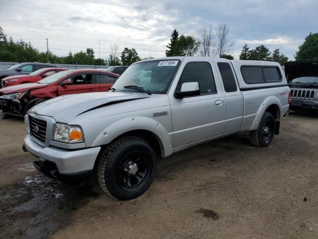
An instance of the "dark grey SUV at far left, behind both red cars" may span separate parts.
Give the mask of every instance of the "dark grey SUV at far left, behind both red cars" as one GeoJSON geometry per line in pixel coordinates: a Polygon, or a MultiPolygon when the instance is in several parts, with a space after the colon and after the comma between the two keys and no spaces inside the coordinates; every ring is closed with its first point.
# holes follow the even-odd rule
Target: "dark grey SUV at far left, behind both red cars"
{"type": "MultiPolygon", "coordinates": [[[[33,71],[37,71],[42,68],[48,67],[57,67],[56,65],[52,64],[43,64],[43,63],[21,63],[16,64],[14,66],[9,67],[6,70],[0,70],[0,81],[4,77],[7,76],[15,76],[15,75],[28,75],[33,71]]],[[[1,87],[1,86],[0,86],[1,87]]]]}

